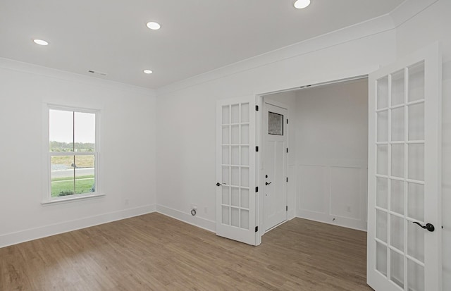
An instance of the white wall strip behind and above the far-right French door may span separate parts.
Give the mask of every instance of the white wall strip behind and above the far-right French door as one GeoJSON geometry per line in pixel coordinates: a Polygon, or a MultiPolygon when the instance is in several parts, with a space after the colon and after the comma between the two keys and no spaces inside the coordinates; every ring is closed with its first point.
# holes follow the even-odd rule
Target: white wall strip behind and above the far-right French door
{"type": "Polygon", "coordinates": [[[443,49],[443,290],[451,290],[451,1],[440,0],[397,28],[397,56],[433,42],[443,49]]]}

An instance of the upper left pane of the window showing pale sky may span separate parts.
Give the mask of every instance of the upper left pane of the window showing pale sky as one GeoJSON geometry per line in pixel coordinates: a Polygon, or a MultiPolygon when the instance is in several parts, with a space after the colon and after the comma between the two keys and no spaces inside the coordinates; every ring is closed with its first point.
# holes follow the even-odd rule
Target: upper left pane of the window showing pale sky
{"type": "Polygon", "coordinates": [[[50,151],[73,151],[73,111],[49,110],[50,151]]]}

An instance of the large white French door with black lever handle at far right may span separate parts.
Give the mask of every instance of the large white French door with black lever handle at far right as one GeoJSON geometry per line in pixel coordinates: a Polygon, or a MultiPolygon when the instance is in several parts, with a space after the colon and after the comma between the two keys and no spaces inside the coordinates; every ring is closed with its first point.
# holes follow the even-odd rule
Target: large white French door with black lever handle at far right
{"type": "Polygon", "coordinates": [[[367,281],[441,290],[441,57],[433,45],[369,75],[367,281]]]}

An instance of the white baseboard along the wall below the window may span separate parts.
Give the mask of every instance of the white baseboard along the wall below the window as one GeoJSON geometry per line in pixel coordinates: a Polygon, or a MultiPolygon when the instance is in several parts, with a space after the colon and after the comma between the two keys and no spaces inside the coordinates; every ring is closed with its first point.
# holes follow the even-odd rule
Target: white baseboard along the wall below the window
{"type": "Polygon", "coordinates": [[[36,240],[42,237],[58,235],[59,233],[67,233],[72,230],[89,228],[90,226],[99,225],[102,223],[109,223],[111,221],[119,221],[124,218],[140,216],[142,214],[152,213],[155,211],[156,205],[149,204],[132,209],[123,209],[120,211],[99,214],[97,216],[75,219],[73,221],[64,221],[62,223],[40,226],[39,228],[20,230],[16,233],[7,233],[6,235],[0,235],[0,248],[7,247],[12,244],[19,244],[20,242],[36,240]]]}

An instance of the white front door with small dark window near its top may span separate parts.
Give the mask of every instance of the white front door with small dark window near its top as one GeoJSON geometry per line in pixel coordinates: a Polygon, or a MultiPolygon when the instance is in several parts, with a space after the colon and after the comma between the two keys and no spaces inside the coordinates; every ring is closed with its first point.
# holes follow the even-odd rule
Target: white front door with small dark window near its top
{"type": "Polygon", "coordinates": [[[287,220],[287,109],[264,103],[262,135],[264,230],[287,220]]]}

